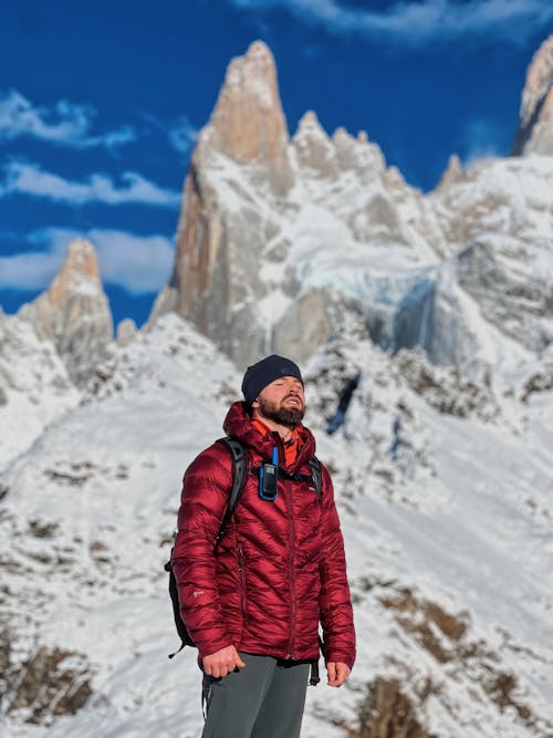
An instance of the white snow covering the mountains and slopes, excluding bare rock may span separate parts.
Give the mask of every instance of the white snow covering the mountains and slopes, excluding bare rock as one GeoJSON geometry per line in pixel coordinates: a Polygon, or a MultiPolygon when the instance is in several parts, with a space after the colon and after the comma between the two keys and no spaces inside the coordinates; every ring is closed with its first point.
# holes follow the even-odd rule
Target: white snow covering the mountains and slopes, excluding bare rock
{"type": "MultiPolygon", "coordinates": [[[[201,145],[208,139],[206,129],[201,145]]],[[[204,174],[213,212],[236,227],[231,247],[246,248],[240,229],[255,224],[251,242],[260,251],[244,261],[261,254],[259,281],[246,283],[230,310],[254,300],[268,346],[293,301],[311,290],[361,305],[359,325],[347,313],[304,372],[306,424],[333,470],[358,661],[344,688],[310,688],[302,736],[343,737],[340,726],[356,725],[377,678],[398,679],[440,738],[552,735],[553,391],[521,401],[551,356],[508,335],[498,303],[535,320],[542,335],[552,329],[540,300],[553,284],[553,159],[482,160],[422,196],[386,169],[373,145],[353,145],[352,166],[332,177],[302,169],[294,145],[289,154],[286,195],[260,184],[255,164],[216,152],[204,174]],[[473,241],[490,248],[514,294],[490,288],[484,304],[460,287],[456,256],[473,241]],[[407,337],[431,343],[430,303],[413,300],[424,290],[439,293],[451,321],[441,337],[453,344],[460,373],[417,352],[392,356],[366,337],[373,310],[392,326],[400,310],[420,311],[407,337]],[[357,374],[344,425],[328,436],[357,374]],[[462,634],[444,631],[432,607],[462,634]],[[501,708],[490,682],[510,674],[512,705],[501,708]]],[[[197,738],[196,654],[167,659],[178,640],[163,565],[182,472],[222,435],[241,377],[210,341],[168,314],[114,347],[77,392],[53,347],[24,325],[0,314],[0,424],[9,428],[0,446],[0,616],[13,667],[40,645],[71,651],[88,669],[93,696],[75,716],[38,726],[24,723],[25,710],[8,714],[6,699],[0,730],[197,738]]]]}

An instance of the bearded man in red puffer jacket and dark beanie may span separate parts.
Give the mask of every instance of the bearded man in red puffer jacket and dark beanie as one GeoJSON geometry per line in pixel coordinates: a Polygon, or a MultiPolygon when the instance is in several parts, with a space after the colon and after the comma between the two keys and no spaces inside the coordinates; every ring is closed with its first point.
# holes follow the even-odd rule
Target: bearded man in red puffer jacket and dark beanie
{"type": "Polygon", "coordinates": [[[355,659],[344,545],[324,466],[320,497],[312,479],[300,368],[268,356],[248,367],[242,392],[223,428],[248,449],[246,487],[216,548],[232,461],[220,443],[192,461],[173,567],[204,671],[204,738],[294,738],[319,623],[331,686],[346,680],[355,659]]]}

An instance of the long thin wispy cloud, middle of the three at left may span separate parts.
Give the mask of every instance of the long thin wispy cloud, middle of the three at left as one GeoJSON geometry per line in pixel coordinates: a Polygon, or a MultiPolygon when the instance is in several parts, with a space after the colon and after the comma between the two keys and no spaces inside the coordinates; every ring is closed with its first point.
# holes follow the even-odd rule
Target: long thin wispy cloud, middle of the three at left
{"type": "Polygon", "coordinates": [[[177,208],[180,201],[180,193],[159,187],[136,171],[124,171],[121,181],[117,186],[104,174],[93,174],[84,183],[71,181],[35,164],[11,162],[4,166],[0,197],[20,194],[69,205],[139,202],[164,208],[177,208]]]}

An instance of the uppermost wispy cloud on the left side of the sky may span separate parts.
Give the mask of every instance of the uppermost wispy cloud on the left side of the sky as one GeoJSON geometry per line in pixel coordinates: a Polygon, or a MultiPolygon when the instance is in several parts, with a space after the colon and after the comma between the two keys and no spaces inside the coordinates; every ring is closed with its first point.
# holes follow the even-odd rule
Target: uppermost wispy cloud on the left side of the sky
{"type": "Polygon", "coordinates": [[[72,148],[115,148],[135,141],[134,129],[124,125],[92,135],[96,111],[92,105],[60,101],[52,107],[33,105],[15,90],[0,93],[0,142],[23,136],[72,148]]]}

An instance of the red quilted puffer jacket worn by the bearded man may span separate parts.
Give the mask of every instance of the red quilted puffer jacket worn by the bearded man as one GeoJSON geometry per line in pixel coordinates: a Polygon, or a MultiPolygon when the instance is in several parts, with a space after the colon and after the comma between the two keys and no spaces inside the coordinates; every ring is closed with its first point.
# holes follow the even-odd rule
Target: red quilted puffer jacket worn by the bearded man
{"type": "MultiPolygon", "coordinates": [[[[234,403],[225,432],[248,447],[250,467],[271,459],[282,443],[251,424],[234,403]]],[[[288,471],[311,475],[315,441],[299,427],[302,446],[288,471]]],[[[315,659],[319,622],[325,659],[355,661],[355,632],[344,544],[328,472],[322,469],[319,500],[307,481],[279,480],[274,501],[262,500],[258,477],[244,490],[213,555],[232,484],[228,449],[213,444],[187,469],[173,565],[180,613],[200,656],[233,644],[239,651],[276,658],[315,659]]]]}

